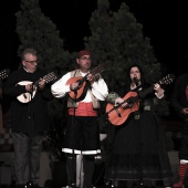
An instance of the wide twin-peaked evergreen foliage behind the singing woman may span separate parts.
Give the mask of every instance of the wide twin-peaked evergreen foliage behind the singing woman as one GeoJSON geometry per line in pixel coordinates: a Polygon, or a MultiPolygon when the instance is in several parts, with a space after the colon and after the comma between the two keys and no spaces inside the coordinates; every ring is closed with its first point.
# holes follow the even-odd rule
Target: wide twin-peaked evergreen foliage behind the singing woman
{"type": "Polygon", "coordinates": [[[159,79],[160,64],[150,41],[144,38],[143,25],[137,23],[124,2],[117,12],[113,12],[108,0],[98,0],[90,19],[90,29],[92,35],[84,38],[85,46],[94,52],[95,64],[107,64],[103,76],[109,91],[125,84],[125,70],[133,63],[143,66],[148,82],[159,79]]]}

